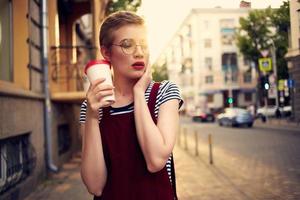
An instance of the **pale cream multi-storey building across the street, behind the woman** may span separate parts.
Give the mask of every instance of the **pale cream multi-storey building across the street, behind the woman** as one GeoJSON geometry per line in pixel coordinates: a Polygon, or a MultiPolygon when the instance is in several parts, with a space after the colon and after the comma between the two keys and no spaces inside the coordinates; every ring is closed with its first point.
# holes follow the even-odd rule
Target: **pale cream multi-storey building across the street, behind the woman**
{"type": "Polygon", "coordinates": [[[234,39],[239,18],[249,10],[193,9],[158,58],[180,86],[186,112],[255,102],[256,72],[234,39]]]}

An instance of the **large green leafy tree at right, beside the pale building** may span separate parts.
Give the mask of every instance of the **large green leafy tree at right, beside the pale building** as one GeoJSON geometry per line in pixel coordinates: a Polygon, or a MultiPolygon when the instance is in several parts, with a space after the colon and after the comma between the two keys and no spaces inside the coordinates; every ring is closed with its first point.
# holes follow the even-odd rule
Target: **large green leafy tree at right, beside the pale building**
{"type": "Polygon", "coordinates": [[[278,78],[288,78],[287,62],[284,58],[288,48],[288,29],[290,26],[289,3],[284,2],[279,9],[253,10],[248,17],[240,18],[237,31],[237,46],[244,57],[258,66],[262,57],[260,51],[271,49],[270,39],[274,41],[277,57],[278,78]]]}

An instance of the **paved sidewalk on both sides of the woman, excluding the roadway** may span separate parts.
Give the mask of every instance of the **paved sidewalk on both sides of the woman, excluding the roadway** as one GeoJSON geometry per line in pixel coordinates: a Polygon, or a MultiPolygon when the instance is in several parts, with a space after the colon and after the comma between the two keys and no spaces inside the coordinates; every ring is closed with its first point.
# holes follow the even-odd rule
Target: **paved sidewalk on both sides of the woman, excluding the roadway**
{"type": "MultiPolygon", "coordinates": [[[[206,142],[199,141],[199,156],[194,155],[192,137],[187,138],[187,143],[188,148],[176,144],[174,149],[179,200],[294,200],[300,197],[299,184],[286,182],[288,180],[272,167],[218,148],[213,150],[214,164],[210,165],[206,142]]],[[[81,182],[79,167],[78,154],[25,200],[92,200],[81,182]]]]}

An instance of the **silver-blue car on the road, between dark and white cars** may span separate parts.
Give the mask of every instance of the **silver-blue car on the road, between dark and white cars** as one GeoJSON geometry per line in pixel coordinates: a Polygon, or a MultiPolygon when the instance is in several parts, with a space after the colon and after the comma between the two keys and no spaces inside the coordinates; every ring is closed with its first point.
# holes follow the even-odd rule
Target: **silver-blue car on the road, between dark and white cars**
{"type": "Polygon", "coordinates": [[[220,126],[248,126],[252,127],[254,118],[251,113],[243,108],[226,108],[217,116],[220,126]]]}

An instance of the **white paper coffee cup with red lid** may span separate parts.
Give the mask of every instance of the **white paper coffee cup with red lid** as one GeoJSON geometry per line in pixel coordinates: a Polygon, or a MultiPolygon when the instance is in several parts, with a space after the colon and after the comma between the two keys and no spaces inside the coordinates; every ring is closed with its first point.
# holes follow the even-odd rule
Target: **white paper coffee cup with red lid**
{"type": "MultiPolygon", "coordinates": [[[[87,75],[90,83],[93,81],[105,78],[105,81],[101,84],[107,84],[113,86],[112,76],[110,70],[110,63],[107,60],[93,60],[90,61],[84,69],[85,74],[87,75]]],[[[103,98],[104,101],[109,103],[109,105],[115,102],[115,96],[109,95],[103,98]]]]}

